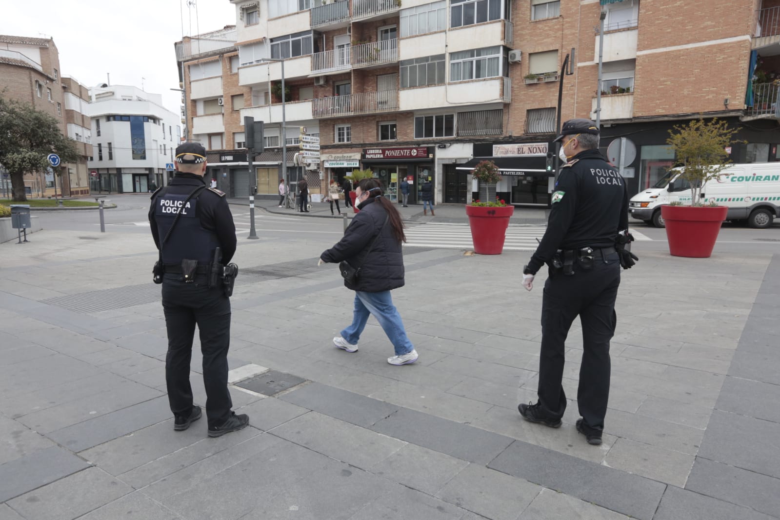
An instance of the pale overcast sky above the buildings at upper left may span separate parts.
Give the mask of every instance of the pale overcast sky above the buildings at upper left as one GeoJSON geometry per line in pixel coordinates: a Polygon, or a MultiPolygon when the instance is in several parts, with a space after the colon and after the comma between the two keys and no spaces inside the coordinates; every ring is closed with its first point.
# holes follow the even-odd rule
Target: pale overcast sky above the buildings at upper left
{"type": "Polygon", "coordinates": [[[0,34],[53,37],[60,73],[87,87],[106,82],[162,94],[165,108],[179,114],[180,95],[173,44],[184,35],[235,25],[229,0],[126,0],[2,2],[0,34]],[[196,16],[197,11],[197,16],[196,16]],[[182,16],[183,13],[183,16],[182,16]],[[190,16],[191,14],[191,16],[190,16]],[[182,33],[182,25],[184,32],[182,33]]]}

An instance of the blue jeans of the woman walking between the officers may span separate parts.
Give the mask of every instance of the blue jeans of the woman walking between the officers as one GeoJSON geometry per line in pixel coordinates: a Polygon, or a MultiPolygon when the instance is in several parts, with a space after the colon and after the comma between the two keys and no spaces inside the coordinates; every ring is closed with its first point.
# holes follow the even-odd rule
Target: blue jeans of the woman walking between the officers
{"type": "Polygon", "coordinates": [[[373,314],[395,348],[395,356],[403,356],[414,350],[414,345],[406,337],[401,315],[392,304],[389,291],[355,291],[355,310],[352,324],[341,331],[342,338],[351,345],[357,345],[360,334],[366,328],[368,316],[373,314]]]}

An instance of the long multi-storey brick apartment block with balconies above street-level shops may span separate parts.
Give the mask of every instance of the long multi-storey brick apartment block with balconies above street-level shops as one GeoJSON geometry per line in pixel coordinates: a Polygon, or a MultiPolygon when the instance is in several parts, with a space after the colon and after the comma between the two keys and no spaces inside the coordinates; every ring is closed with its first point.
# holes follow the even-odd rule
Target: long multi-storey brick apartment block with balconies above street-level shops
{"type": "MultiPolygon", "coordinates": [[[[548,206],[554,179],[545,156],[555,151],[559,74],[572,49],[561,119],[595,119],[601,91],[601,144],[605,153],[615,150],[613,142],[622,144],[620,166],[633,193],[673,164],[668,130],[697,117],[727,119],[739,129],[736,140],[745,142],[731,147],[733,161],[780,157],[778,0],[231,3],[237,59],[222,55],[211,74],[222,69],[223,121],[229,112],[239,117],[231,116],[222,133],[204,129],[196,136],[207,135],[211,149],[222,146],[220,157],[232,157],[220,161],[220,172],[223,189],[234,196],[247,186],[249,173],[239,173],[246,168],[241,123],[251,115],[267,129],[268,148],[254,158],[259,193],[275,193],[281,139],[291,146],[284,163],[293,167],[303,126],[321,140],[310,186],[371,168],[391,200],[406,177],[417,188],[412,202],[430,178],[437,202],[466,203],[475,191],[470,169],[491,158],[504,177],[499,196],[548,206]],[[284,134],[282,63],[273,60],[284,60],[284,134]]],[[[197,81],[204,80],[185,82],[185,89],[197,92],[197,81]]],[[[203,117],[193,103],[193,119],[203,117]]]]}

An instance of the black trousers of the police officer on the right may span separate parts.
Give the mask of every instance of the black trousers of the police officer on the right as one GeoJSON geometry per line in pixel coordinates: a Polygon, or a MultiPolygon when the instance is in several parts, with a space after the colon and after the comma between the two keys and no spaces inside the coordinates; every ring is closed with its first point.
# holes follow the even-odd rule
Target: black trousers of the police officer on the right
{"type": "Polygon", "coordinates": [[[583,271],[574,266],[566,276],[551,269],[544,283],[541,304],[541,354],[539,359],[539,404],[543,416],[560,419],[566,410],[562,387],[566,336],[574,318],[583,329],[583,357],[577,405],[585,430],[604,430],[609,398],[609,341],[615,334],[615,298],[620,285],[617,253],[594,255],[594,266],[583,271]]]}

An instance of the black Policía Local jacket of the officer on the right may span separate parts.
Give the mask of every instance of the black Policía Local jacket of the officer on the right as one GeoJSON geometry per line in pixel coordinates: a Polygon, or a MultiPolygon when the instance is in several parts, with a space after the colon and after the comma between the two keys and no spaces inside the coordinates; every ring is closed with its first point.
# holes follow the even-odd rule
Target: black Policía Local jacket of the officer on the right
{"type": "Polygon", "coordinates": [[[528,263],[532,274],[558,249],[615,246],[618,232],[628,229],[626,181],[598,150],[580,152],[561,168],[551,202],[547,231],[528,263]]]}

